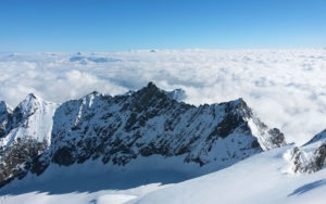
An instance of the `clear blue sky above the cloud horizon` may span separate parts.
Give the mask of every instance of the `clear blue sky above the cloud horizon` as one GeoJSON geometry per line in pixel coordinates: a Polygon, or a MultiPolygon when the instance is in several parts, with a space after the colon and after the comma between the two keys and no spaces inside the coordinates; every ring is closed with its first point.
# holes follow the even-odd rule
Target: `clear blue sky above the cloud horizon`
{"type": "Polygon", "coordinates": [[[326,0],[1,0],[0,52],[326,47],[326,0]]]}

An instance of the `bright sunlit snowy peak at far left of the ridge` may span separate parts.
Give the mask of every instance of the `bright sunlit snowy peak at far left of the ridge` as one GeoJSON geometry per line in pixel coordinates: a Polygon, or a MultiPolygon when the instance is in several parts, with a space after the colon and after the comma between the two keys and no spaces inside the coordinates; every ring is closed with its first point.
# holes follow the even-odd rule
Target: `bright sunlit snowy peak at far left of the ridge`
{"type": "Polygon", "coordinates": [[[0,181],[21,178],[22,165],[48,150],[57,104],[28,94],[14,110],[0,102],[0,181]]]}

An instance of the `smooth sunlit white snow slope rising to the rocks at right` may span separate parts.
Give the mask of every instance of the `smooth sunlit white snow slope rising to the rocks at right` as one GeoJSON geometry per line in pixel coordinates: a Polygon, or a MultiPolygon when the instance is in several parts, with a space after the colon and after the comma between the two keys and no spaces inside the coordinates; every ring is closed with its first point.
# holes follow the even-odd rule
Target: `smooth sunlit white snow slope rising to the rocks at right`
{"type": "Polygon", "coordinates": [[[223,170],[150,192],[128,204],[312,203],[326,202],[326,168],[289,174],[289,146],[251,156],[223,170]]]}

